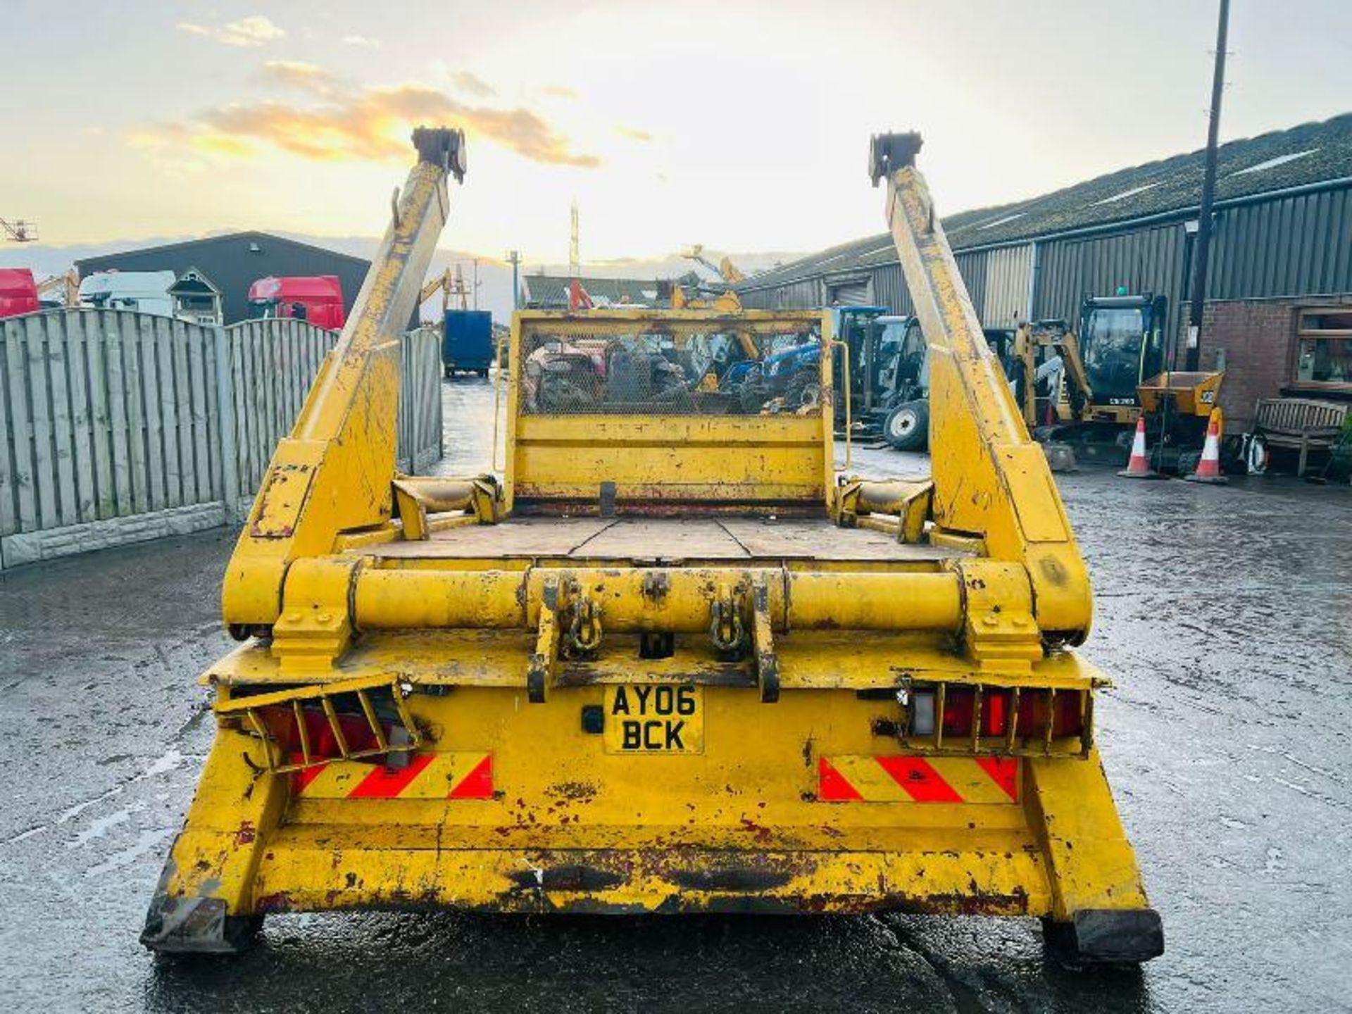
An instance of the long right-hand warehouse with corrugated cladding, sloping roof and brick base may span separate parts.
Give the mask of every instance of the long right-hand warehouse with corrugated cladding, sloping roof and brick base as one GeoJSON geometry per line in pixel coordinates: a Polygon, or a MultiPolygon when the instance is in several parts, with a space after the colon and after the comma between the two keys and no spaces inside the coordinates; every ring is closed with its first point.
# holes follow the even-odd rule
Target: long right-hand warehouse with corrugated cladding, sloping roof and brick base
{"type": "MultiPolygon", "coordinates": [[[[1163,295],[1182,368],[1203,158],[1194,151],[945,218],[982,324],[1078,322],[1086,296],[1119,287],[1163,295]]],[[[1197,361],[1226,370],[1230,422],[1245,425],[1260,397],[1352,400],[1352,114],[1222,145],[1211,243],[1197,361]]],[[[911,312],[886,233],[737,288],[746,307],[911,312]]]]}

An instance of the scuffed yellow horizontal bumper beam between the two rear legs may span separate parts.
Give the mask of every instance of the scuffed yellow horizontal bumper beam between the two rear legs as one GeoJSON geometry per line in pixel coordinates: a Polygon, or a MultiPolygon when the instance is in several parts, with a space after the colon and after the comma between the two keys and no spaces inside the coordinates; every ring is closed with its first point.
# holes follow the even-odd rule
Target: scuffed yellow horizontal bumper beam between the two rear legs
{"type": "Polygon", "coordinates": [[[864,913],[1042,915],[1032,852],[779,852],[342,848],[281,836],[260,865],[257,911],[454,907],[522,913],[864,913]],[[334,864],[334,856],[341,863],[334,864]]]}

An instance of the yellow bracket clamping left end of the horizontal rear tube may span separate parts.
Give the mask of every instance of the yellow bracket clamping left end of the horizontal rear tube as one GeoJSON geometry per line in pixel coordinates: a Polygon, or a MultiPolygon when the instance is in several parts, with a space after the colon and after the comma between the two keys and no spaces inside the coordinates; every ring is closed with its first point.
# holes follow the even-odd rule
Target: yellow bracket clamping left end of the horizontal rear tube
{"type": "Polygon", "coordinates": [[[352,642],[349,594],[360,560],[315,557],[287,571],[272,654],[284,673],[329,672],[352,642]]]}

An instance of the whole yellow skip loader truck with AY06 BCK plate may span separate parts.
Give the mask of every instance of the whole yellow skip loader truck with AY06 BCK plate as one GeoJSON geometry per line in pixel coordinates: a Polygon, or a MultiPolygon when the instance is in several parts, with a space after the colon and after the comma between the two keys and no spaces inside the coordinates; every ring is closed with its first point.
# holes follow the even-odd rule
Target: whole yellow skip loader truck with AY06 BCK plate
{"type": "Polygon", "coordinates": [[[748,410],[714,338],[821,311],[522,311],[496,475],[395,472],[400,331],[464,172],[419,162],[230,561],[215,742],[142,941],[272,913],[1040,917],[1163,949],[1072,649],[1088,576],[976,322],[919,138],[871,174],[932,345],[934,472],[864,480],[821,397],[748,410]],[[692,365],[694,364],[694,365],[692,365]],[[846,462],[848,465],[848,462],[846,462]]]}

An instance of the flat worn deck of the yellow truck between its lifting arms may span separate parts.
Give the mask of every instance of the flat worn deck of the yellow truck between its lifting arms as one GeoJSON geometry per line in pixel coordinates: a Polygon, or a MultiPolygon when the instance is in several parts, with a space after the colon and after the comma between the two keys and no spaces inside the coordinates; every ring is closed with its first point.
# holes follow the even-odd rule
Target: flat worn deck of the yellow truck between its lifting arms
{"type": "Polygon", "coordinates": [[[433,533],[420,542],[356,550],[400,560],[814,560],[938,562],[963,550],[898,542],[871,529],[842,529],[829,518],[508,518],[433,533]]]}

